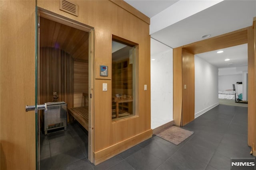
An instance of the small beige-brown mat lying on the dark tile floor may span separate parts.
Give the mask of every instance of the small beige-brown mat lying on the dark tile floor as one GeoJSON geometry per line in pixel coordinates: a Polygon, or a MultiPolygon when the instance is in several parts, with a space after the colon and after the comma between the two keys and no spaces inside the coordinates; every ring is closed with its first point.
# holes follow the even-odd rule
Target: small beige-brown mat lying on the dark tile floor
{"type": "Polygon", "coordinates": [[[185,139],[190,137],[193,133],[193,131],[188,131],[177,126],[171,126],[168,129],[162,131],[161,133],[158,133],[156,136],[166,141],[169,141],[175,145],[179,145],[185,139]]]}

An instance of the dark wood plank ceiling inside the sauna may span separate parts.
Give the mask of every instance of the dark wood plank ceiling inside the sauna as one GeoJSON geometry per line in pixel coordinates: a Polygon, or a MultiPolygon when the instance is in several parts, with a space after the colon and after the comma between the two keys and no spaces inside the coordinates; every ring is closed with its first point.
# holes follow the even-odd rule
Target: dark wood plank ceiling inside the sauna
{"type": "Polygon", "coordinates": [[[40,47],[57,47],[73,58],[88,60],[89,33],[40,17],[40,47]]]}

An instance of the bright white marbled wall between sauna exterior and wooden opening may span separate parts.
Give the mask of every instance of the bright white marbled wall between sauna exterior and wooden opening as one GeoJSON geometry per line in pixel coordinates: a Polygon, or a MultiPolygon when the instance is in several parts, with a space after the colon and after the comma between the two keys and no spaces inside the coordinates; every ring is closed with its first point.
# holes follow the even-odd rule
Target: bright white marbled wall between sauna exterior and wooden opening
{"type": "Polygon", "coordinates": [[[150,49],[151,128],[155,129],[173,120],[172,48],[151,39],[150,49]]]}

